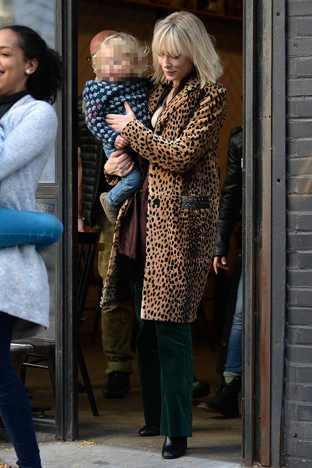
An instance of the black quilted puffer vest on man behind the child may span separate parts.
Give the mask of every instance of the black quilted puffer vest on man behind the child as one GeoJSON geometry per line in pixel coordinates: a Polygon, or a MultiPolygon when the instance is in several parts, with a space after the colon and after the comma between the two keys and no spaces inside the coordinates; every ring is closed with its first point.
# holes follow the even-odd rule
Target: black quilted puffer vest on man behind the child
{"type": "Polygon", "coordinates": [[[108,192],[112,187],[107,184],[103,167],[107,161],[103,143],[96,138],[85,123],[82,110],[83,98],[78,98],[78,146],[81,148],[83,164],[83,210],[85,222],[94,226],[97,222],[97,212],[101,207],[99,197],[102,192],[108,192]]]}

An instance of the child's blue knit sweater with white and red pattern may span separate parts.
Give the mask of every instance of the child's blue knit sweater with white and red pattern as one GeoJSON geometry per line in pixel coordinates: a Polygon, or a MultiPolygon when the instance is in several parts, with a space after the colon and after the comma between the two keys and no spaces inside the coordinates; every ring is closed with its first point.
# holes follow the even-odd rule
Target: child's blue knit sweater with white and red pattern
{"type": "Polygon", "coordinates": [[[147,77],[142,76],[133,82],[113,84],[106,81],[86,83],[83,98],[86,102],[86,124],[92,133],[103,143],[114,147],[120,132],[113,130],[104,121],[106,114],[126,114],[124,102],[130,105],[135,117],[146,123],[147,77]]]}

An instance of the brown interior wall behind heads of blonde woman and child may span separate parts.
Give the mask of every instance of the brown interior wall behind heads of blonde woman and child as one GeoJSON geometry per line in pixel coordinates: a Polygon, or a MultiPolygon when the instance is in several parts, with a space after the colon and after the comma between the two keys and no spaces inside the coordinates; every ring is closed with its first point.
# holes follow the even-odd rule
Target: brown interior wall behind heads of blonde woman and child
{"type": "MultiPolygon", "coordinates": [[[[78,92],[82,93],[87,80],[93,78],[90,63],[89,44],[92,37],[104,29],[123,30],[141,40],[150,41],[158,14],[166,10],[126,1],[79,0],[78,2],[78,92]]],[[[216,47],[224,64],[220,82],[228,92],[227,118],[220,132],[219,167],[220,187],[225,179],[228,138],[231,128],[242,125],[243,94],[243,32],[242,22],[222,20],[217,17],[201,16],[208,32],[215,37],[216,47]]],[[[235,255],[231,255],[231,258],[235,255]]]]}

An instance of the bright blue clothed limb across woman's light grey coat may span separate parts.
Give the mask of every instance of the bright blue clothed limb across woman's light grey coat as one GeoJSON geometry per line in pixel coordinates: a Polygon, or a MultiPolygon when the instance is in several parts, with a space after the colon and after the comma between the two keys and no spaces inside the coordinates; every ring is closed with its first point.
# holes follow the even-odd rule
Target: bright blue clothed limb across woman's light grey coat
{"type": "Polygon", "coordinates": [[[53,214],[0,208],[0,247],[36,244],[37,252],[58,241],[62,223],[53,214]]]}

